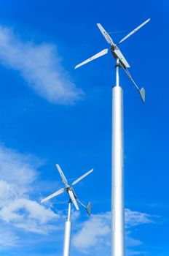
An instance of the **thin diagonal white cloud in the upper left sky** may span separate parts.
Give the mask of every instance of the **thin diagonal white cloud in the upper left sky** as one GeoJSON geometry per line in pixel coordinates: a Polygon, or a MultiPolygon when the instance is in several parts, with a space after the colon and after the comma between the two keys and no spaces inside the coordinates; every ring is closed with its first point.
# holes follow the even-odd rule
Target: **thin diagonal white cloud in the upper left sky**
{"type": "Polygon", "coordinates": [[[82,96],[52,44],[23,42],[12,29],[0,26],[0,61],[5,67],[19,71],[28,85],[50,102],[71,104],[82,96]]]}

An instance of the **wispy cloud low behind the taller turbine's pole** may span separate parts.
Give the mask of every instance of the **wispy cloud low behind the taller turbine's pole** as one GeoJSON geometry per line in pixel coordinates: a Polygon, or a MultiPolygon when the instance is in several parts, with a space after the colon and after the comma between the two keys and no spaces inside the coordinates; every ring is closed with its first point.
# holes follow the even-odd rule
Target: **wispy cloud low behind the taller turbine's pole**
{"type": "MultiPolygon", "coordinates": [[[[125,238],[127,246],[139,246],[142,242],[132,238],[132,227],[152,223],[154,222],[154,217],[146,213],[126,209],[125,222],[127,227],[125,238]]],[[[89,252],[90,250],[95,253],[95,255],[97,255],[97,253],[98,255],[101,253],[106,255],[110,246],[110,235],[111,213],[93,214],[90,219],[83,222],[82,225],[79,225],[79,231],[74,235],[73,244],[76,249],[79,249],[84,253],[89,252]]],[[[132,252],[134,253],[134,251],[132,252]]],[[[130,251],[128,251],[128,255],[129,254],[130,251]]]]}

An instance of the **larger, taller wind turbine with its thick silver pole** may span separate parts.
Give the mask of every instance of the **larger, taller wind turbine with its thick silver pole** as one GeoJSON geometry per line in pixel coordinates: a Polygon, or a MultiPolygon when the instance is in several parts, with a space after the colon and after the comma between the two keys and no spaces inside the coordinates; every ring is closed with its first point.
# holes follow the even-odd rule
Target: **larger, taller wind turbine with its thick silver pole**
{"type": "Polygon", "coordinates": [[[124,138],[123,138],[123,92],[119,86],[119,67],[125,71],[127,77],[133,82],[138,90],[141,99],[145,102],[145,90],[139,89],[133,80],[127,68],[130,67],[125,56],[119,50],[118,45],[124,42],[128,37],[134,34],[138,29],[148,23],[150,18],[141,23],[136,29],[131,31],[127,36],[122,38],[117,44],[109,36],[103,26],[97,23],[103,37],[111,45],[110,48],[101,50],[101,52],[90,57],[86,61],[76,65],[75,69],[97,59],[111,50],[116,64],[116,86],[112,88],[112,145],[111,145],[111,256],[125,255],[125,214],[124,214],[124,182],[123,182],[123,165],[124,165],[124,138]]]}

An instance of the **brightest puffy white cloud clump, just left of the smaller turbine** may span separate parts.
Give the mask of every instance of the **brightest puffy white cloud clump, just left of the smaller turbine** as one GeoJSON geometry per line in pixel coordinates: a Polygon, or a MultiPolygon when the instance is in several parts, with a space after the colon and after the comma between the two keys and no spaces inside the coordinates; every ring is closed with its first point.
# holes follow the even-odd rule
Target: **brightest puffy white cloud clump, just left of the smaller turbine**
{"type": "Polygon", "coordinates": [[[13,200],[7,206],[1,208],[0,218],[7,223],[34,233],[48,233],[55,230],[52,225],[47,225],[59,215],[50,209],[44,208],[35,201],[21,198],[13,200]]]}

